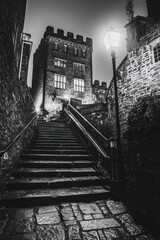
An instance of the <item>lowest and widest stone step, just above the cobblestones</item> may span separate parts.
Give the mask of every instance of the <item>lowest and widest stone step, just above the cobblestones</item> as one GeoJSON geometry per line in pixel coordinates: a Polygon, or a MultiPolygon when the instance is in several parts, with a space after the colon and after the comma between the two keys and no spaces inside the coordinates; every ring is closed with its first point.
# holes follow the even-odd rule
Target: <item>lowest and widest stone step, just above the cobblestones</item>
{"type": "Polygon", "coordinates": [[[10,208],[20,208],[47,206],[62,202],[91,202],[108,197],[109,189],[102,186],[20,190],[6,192],[0,204],[10,208]]]}

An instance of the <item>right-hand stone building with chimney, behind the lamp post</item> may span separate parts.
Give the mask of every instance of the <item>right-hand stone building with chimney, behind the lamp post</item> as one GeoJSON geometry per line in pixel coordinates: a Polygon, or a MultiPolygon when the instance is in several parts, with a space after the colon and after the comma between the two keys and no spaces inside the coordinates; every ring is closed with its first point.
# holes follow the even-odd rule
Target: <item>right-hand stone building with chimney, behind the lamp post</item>
{"type": "MultiPolygon", "coordinates": [[[[155,11],[156,3],[156,0],[155,4],[147,1],[148,17],[136,16],[125,26],[127,56],[117,68],[122,135],[127,128],[128,113],[135,101],[144,95],[160,94],[160,13],[155,11]]],[[[108,123],[114,129],[113,80],[108,88],[107,103],[108,123]]]]}

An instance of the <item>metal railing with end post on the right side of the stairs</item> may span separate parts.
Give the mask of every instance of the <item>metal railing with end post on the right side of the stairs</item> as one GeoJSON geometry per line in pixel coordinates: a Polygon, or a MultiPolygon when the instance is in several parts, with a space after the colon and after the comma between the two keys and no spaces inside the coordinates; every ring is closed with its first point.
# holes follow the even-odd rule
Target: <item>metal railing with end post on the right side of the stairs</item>
{"type": "MultiPolygon", "coordinates": [[[[87,145],[91,147],[92,156],[96,165],[100,163],[101,169],[105,169],[110,175],[111,197],[119,199],[119,185],[117,173],[117,139],[107,139],[90,122],[87,121],[72,105],[64,108],[68,122],[74,124],[80,130],[81,136],[87,139],[87,145]]],[[[86,141],[85,141],[86,142],[86,141]]],[[[103,174],[104,175],[104,174],[103,174]]],[[[106,175],[104,176],[106,177],[106,175]]],[[[108,178],[108,176],[107,176],[108,178]]]]}

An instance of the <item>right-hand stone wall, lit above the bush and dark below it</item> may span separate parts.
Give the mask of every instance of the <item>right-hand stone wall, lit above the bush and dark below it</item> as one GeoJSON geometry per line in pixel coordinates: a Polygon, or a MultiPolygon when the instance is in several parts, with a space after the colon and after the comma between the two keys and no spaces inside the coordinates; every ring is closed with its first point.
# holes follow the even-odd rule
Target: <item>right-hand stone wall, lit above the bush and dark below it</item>
{"type": "MultiPolygon", "coordinates": [[[[157,223],[160,222],[160,213],[157,211],[160,201],[158,190],[160,152],[153,152],[150,149],[147,149],[146,154],[140,149],[128,151],[125,131],[129,111],[136,100],[145,95],[160,95],[160,61],[155,62],[153,52],[153,48],[159,43],[160,21],[147,19],[143,36],[117,68],[120,125],[126,166],[126,201],[135,216],[146,223],[148,229],[154,233],[159,233],[157,223]],[[152,168],[144,167],[141,161],[150,162],[152,168]]],[[[115,130],[114,106],[112,80],[107,95],[107,119],[115,130]]],[[[116,131],[113,131],[113,137],[115,136],[116,131]]]]}

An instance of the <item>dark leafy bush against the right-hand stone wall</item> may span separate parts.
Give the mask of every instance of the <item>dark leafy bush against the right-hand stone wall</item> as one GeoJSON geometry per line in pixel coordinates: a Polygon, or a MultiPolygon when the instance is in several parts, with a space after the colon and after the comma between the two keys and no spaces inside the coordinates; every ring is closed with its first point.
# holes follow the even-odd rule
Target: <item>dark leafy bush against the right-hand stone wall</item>
{"type": "Polygon", "coordinates": [[[144,96],[137,100],[128,116],[128,141],[148,146],[160,138],[160,96],[144,96]]]}

